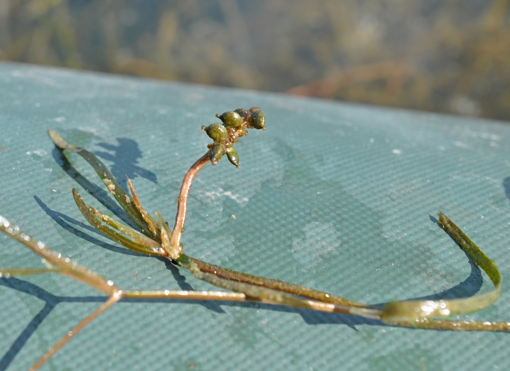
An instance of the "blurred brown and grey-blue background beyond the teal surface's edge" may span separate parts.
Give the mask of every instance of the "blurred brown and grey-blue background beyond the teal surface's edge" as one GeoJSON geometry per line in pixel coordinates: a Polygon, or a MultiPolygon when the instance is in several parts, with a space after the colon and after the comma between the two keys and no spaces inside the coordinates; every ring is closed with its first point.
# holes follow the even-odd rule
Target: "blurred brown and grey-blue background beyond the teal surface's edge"
{"type": "Polygon", "coordinates": [[[0,59],[510,121],[510,0],[0,0],[0,59]]]}

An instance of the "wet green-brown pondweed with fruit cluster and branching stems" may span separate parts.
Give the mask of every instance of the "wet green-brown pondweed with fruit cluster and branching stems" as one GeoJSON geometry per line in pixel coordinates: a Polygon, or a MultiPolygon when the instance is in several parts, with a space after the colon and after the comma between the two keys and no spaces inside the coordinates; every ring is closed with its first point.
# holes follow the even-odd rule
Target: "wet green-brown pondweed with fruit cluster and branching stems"
{"type": "Polygon", "coordinates": [[[46,247],[44,243],[23,233],[18,226],[13,226],[6,218],[0,216],[0,230],[17,239],[35,253],[42,256],[42,269],[2,269],[0,277],[10,275],[59,273],[81,281],[100,292],[108,295],[103,305],[91,313],[85,320],[50,348],[32,367],[39,368],[52,357],[67,341],[83,329],[107,308],[122,298],[166,298],[185,300],[227,300],[227,301],[258,301],[268,304],[287,305],[301,309],[319,310],[325,312],[344,313],[368,319],[380,320],[392,326],[404,326],[423,329],[469,330],[469,331],[510,331],[510,322],[481,322],[447,319],[452,316],[464,315],[486,308],[494,303],[501,293],[501,276],[494,262],[489,259],[447,216],[439,214],[439,222],[451,238],[460,245],[474,264],[481,267],[494,283],[495,290],[486,294],[469,298],[450,300],[405,300],[375,307],[341,298],[322,291],[317,291],[296,284],[236,272],[230,269],[212,265],[192,258],[184,252],[181,237],[184,231],[188,195],[193,179],[199,170],[209,162],[218,163],[226,154],[228,160],[239,166],[239,156],[234,145],[241,136],[247,134],[247,129],[266,129],[265,117],[260,108],[249,110],[239,108],[216,115],[222,123],[202,126],[213,143],[208,145],[208,152],[201,156],[186,173],[178,197],[177,213],[173,229],[156,211],[155,217],[149,215],[142,207],[133,184],[128,179],[131,196],[127,194],[109,172],[92,153],[68,144],[56,132],[48,130],[55,145],[64,151],[73,151],[82,156],[96,171],[107,188],[115,197],[119,205],[131,217],[139,230],[120,223],[97,209],[88,206],[73,188],[72,195],[78,208],[87,221],[97,231],[109,237],[122,246],[148,255],[162,256],[173,264],[188,269],[191,274],[213,285],[228,290],[224,291],[130,291],[122,290],[111,280],[102,277],[92,270],[72,262],[69,258],[46,247]]]}

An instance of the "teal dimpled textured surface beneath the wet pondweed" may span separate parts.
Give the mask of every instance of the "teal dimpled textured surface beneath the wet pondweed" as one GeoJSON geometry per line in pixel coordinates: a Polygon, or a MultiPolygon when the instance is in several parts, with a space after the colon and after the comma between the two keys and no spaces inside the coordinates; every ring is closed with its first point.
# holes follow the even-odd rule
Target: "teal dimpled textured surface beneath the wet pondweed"
{"type": "MultiPolygon", "coordinates": [[[[0,214],[122,289],[214,289],[94,232],[71,188],[110,215],[98,199],[113,198],[46,130],[94,152],[121,185],[129,175],[145,209],[171,223],[182,178],[210,141],[201,125],[252,105],[268,129],[241,138],[239,169],[224,158],[197,176],[183,237],[189,255],[371,304],[491,290],[436,224],[441,210],[503,277],[496,304],[464,318],[510,320],[504,122],[0,64],[0,214]]],[[[41,266],[6,236],[0,247],[2,267],[41,266]]],[[[28,368],[101,300],[58,275],[0,280],[0,368],[28,368]]],[[[124,300],[42,369],[505,369],[509,348],[507,333],[395,328],[261,304],[124,300]]]]}

